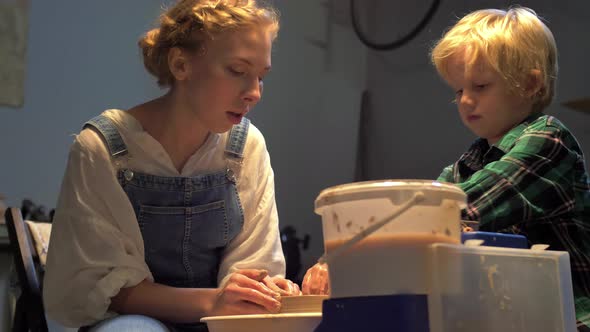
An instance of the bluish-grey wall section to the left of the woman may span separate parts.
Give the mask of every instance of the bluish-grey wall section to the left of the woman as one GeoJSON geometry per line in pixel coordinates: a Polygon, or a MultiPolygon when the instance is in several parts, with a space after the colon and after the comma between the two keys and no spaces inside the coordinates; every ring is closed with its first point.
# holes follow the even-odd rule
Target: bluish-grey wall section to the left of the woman
{"type": "Polygon", "coordinates": [[[25,104],[0,107],[0,192],[55,206],[73,133],[156,96],[137,51],[160,1],[31,1],[25,104]]]}

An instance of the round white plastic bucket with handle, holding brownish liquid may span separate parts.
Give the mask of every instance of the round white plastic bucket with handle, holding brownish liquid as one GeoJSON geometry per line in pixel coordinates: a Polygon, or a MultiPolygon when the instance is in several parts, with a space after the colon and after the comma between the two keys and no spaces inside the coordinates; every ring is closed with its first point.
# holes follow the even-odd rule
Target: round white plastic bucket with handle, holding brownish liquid
{"type": "Polygon", "coordinates": [[[358,182],[323,190],[315,201],[327,254],[392,214],[416,193],[424,199],[328,261],[332,298],[426,294],[429,245],[460,243],[465,194],[432,180],[358,182]]]}

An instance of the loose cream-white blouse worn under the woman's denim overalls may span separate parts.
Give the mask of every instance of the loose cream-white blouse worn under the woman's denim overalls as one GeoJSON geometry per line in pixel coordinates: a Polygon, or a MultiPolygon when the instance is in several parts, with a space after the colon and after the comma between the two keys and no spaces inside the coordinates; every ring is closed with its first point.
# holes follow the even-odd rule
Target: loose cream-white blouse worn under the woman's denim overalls
{"type": "MultiPolygon", "coordinates": [[[[121,110],[103,113],[127,145],[126,167],[158,176],[192,176],[225,169],[228,133],[210,134],[179,173],[168,154],[140,123],[121,110]]],[[[47,314],[79,327],[115,315],[111,297],[144,279],[153,281],[133,207],[116,178],[117,167],[102,138],[85,129],[70,149],[54,216],[43,300],[47,314]]],[[[261,132],[250,125],[238,178],[244,227],[226,247],[217,280],[238,269],[266,269],[284,276],[274,174],[261,132]]]]}

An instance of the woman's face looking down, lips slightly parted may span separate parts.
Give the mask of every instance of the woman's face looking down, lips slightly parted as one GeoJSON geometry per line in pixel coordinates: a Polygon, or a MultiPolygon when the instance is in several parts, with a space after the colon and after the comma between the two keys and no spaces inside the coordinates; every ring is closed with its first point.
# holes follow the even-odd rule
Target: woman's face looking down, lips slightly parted
{"type": "Polygon", "coordinates": [[[269,29],[252,27],[217,34],[190,56],[186,78],[175,84],[204,127],[226,132],[260,101],[271,49],[269,29]]]}

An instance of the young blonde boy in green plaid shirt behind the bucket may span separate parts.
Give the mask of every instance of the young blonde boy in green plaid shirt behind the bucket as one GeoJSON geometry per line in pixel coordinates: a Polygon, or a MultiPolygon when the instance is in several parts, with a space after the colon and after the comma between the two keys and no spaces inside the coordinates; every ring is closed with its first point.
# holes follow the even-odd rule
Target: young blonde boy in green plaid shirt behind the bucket
{"type": "Polygon", "coordinates": [[[557,78],[553,34],[528,8],[479,10],[431,56],[461,120],[479,136],[439,180],[465,191],[462,217],[480,230],[568,251],[576,316],[590,322],[590,180],[573,134],[542,113],[557,78]]]}

